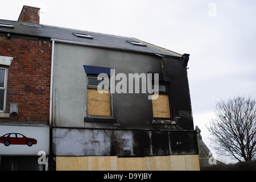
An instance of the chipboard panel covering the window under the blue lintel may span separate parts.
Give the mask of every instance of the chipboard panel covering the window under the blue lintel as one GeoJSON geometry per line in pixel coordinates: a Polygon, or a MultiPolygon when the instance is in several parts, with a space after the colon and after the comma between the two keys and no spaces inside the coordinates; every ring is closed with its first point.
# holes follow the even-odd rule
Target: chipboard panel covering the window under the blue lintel
{"type": "Polygon", "coordinates": [[[98,93],[97,89],[87,89],[88,115],[110,116],[109,93],[98,93]]]}

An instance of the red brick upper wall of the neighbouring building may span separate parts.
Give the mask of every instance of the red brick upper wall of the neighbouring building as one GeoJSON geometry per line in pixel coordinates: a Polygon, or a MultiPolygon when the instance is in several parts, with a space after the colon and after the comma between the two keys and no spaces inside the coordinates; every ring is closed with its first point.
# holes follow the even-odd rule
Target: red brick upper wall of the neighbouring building
{"type": "Polygon", "coordinates": [[[18,115],[0,122],[49,122],[51,42],[0,35],[0,55],[14,57],[8,69],[6,113],[18,104],[18,115]]]}

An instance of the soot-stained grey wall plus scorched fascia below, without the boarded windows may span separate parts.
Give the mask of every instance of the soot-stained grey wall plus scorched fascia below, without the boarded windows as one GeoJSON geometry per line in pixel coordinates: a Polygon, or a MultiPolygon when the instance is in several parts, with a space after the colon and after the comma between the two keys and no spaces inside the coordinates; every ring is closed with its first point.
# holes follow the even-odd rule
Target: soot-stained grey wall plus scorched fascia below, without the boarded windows
{"type": "Polygon", "coordinates": [[[52,117],[56,156],[198,154],[181,57],[55,43],[52,117]],[[110,93],[112,117],[90,118],[84,66],[113,68],[127,77],[159,73],[160,83],[167,85],[170,118],[154,118],[150,94],[141,92],[110,93]]]}

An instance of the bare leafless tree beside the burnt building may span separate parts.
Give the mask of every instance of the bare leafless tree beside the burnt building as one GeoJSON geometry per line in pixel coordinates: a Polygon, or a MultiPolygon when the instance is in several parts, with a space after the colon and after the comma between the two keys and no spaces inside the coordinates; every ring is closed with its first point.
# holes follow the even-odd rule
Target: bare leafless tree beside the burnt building
{"type": "Polygon", "coordinates": [[[216,104],[216,119],[207,126],[218,153],[237,160],[252,160],[256,154],[256,101],[234,97],[216,104]]]}

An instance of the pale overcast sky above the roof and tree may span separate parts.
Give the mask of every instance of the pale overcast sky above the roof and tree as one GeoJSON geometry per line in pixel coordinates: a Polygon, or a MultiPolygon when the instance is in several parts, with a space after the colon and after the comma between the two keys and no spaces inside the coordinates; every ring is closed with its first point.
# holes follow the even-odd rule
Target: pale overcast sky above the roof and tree
{"type": "Polygon", "coordinates": [[[194,125],[205,124],[221,99],[256,98],[254,0],[1,0],[0,19],[18,20],[23,5],[41,8],[40,23],[141,39],[189,53],[194,125]]]}

